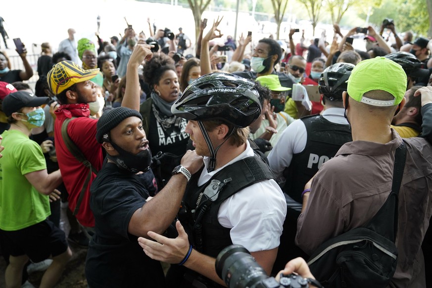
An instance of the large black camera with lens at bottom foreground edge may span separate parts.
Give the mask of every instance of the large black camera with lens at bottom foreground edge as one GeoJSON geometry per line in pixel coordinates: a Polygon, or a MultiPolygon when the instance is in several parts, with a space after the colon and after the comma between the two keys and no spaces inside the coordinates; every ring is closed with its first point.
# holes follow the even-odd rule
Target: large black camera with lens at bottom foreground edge
{"type": "MultiPolygon", "coordinates": [[[[267,276],[249,251],[241,245],[224,248],[216,258],[216,273],[229,288],[305,288],[310,279],[295,274],[281,275],[278,281],[267,276]]],[[[315,284],[315,280],[314,283],[315,284]]]]}

